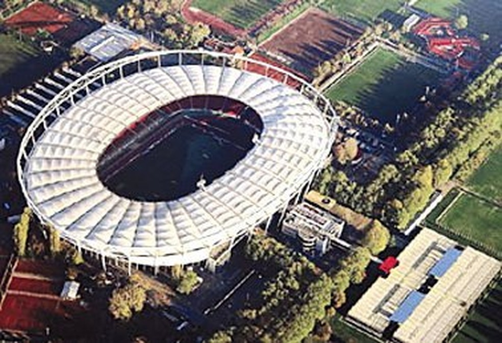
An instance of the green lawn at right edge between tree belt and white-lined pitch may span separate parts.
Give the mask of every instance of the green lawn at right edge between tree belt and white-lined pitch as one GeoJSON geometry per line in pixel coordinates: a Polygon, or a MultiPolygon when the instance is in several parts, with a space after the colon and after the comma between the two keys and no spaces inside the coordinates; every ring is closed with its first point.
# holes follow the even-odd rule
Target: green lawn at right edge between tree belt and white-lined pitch
{"type": "Polygon", "coordinates": [[[488,157],[468,180],[469,187],[485,197],[502,203],[502,146],[488,157]]]}

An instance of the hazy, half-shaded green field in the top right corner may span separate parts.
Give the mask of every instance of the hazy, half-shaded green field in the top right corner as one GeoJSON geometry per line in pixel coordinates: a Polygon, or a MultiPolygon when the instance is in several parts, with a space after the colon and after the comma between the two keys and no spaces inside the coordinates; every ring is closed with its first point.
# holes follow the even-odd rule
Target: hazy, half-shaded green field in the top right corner
{"type": "Polygon", "coordinates": [[[487,33],[488,43],[497,48],[502,43],[502,2],[493,0],[418,0],[414,7],[443,18],[455,19],[467,15],[467,29],[476,35],[487,33]]]}

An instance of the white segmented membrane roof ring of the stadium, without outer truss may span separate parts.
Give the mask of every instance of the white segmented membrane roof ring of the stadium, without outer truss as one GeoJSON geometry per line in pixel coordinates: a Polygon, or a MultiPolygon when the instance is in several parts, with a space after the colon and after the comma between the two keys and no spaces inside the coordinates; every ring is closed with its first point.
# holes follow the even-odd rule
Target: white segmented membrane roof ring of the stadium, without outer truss
{"type": "Polygon", "coordinates": [[[82,247],[141,264],[185,264],[272,215],[329,151],[323,114],[284,84],[230,67],[158,67],[106,85],[63,112],[37,139],[23,182],[37,213],[82,247]],[[232,170],[168,202],[126,199],[99,181],[98,157],[117,134],[196,94],[238,99],[263,120],[259,143],[232,170]]]}

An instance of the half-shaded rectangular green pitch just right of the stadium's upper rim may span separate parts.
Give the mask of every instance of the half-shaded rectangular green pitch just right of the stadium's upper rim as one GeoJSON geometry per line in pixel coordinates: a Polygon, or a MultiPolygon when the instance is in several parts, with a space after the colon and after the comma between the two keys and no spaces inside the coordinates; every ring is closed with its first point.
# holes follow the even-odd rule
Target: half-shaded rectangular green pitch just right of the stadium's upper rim
{"type": "Polygon", "coordinates": [[[411,111],[425,87],[435,86],[439,78],[435,70],[377,48],[325,95],[356,105],[384,124],[394,124],[396,115],[411,111]]]}

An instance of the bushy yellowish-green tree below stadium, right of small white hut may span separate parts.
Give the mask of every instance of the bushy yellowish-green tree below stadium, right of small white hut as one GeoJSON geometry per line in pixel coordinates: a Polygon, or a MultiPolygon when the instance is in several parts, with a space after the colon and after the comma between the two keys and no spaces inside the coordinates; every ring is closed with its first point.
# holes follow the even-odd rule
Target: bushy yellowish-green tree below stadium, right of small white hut
{"type": "Polygon", "coordinates": [[[125,286],[113,290],[108,309],[116,320],[128,321],[143,309],[145,300],[145,289],[131,277],[125,286]]]}

